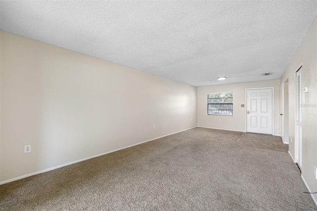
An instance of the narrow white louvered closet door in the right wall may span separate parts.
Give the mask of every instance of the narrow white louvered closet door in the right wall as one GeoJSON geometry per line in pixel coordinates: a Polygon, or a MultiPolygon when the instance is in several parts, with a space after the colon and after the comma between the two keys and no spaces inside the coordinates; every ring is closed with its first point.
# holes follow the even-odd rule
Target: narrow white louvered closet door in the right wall
{"type": "Polygon", "coordinates": [[[302,168],[303,74],[296,72],[296,162],[302,168]]]}

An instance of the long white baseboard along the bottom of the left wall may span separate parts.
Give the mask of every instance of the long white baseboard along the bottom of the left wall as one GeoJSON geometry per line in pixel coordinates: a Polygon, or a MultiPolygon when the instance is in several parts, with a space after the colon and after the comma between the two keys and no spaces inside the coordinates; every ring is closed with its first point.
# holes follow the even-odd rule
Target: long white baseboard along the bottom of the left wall
{"type": "Polygon", "coordinates": [[[170,136],[170,135],[173,135],[175,133],[180,133],[180,132],[183,132],[183,131],[186,131],[186,130],[190,130],[190,129],[193,129],[193,128],[196,128],[196,127],[197,126],[191,127],[191,128],[185,129],[185,130],[181,130],[181,131],[178,131],[178,132],[170,133],[170,134],[167,134],[167,135],[164,135],[164,136],[160,136],[160,137],[157,137],[157,138],[154,138],[154,139],[150,139],[150,140],[147,140],[147,141],[143,141],[143,142],[140,142],[140,143],[137,143],[137,144],[132,144],[132,145],[129,145],[127,147],[122,147],[122,148],[119,148],[119,149],[116,149],[116,150],[111,150],[111,151],[106,152],[106,153],[98,154],[98,155],[91,156],[91,157],[88,157],[88,158],[82,158],[82,159],[75,160],[75,161],[72,161],[72,162],[68,162],[68,163],[65,163],[65,164],[57,165],[57,166],[54,166],[52,168],[46,168],[46,169],[41,170],[41,171],[36,171],[36,172],[30,173],[30,174],[25,174],[25,175],[22,175],[22,176],[18,176],[18,177],[12,178],[12,179],[8,179],[8,180],[5,180],[5,181],[2,181],[2,182],[0,182],[0,185],[3,185],[5,183],[9,183],[9,182],[13,182],[13,181],[16,181],[16,180],[19,180],[19,179],[23,179],[23,178],[26,178],[26,177],[29,177],[29,176],[33,176],[33,175],[36,175],[36,174],[41,174],[41,173],[44,173],[44,172],[47,172],[47,171],[52,171],[54,169],[61,168],[61,167],[64,167],[66,165],[71,165],[71,164],[74,164],[76,162],[81,162],[81,161],[84,161],[84,160],[87,160],[87,159],[96,158],[96,157],[99,157],[99,156],[104,156],[104,155],[109,154],[109,153],[113,153],[113,152],[116,152],[116,151],[119,151],[119,150],[123,150],[123,149],[126,149],[126,148],[134,147],[134,146],[139,145],[139,144],[144,144],[146,142],[154,141],[154,140],[163,138],[165,136],[170,136]]]}

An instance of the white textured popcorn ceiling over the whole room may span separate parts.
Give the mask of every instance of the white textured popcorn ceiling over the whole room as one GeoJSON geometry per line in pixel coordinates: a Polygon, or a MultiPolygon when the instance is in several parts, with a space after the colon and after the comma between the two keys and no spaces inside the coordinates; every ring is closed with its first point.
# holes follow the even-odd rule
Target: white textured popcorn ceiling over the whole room
{"type": "Polygon", "coordinates": [[[194,86],[279,79],[316,16],[315,0],[0,2],[1,30],[194,86]]]}

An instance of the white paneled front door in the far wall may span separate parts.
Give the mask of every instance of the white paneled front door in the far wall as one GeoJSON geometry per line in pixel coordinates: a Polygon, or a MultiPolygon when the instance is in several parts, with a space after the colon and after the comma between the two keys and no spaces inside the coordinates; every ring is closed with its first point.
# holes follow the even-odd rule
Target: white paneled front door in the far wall
{"type": "Polygon", "coordinates": [[[247,132],[272,134],[273,91],[247,90],[247,132]]]}

